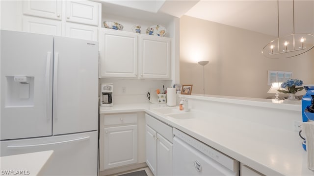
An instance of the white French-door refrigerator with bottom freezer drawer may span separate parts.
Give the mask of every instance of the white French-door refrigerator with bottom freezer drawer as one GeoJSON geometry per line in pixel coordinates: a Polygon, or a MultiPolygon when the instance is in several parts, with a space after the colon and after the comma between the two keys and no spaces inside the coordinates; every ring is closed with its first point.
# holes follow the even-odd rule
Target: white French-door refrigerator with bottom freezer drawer
{"type": "Polygon", "coordinates": [[[98,42],[4,30],[0,40],[0,155],[53,150],[43,175],[97,176],[98,42]]]}

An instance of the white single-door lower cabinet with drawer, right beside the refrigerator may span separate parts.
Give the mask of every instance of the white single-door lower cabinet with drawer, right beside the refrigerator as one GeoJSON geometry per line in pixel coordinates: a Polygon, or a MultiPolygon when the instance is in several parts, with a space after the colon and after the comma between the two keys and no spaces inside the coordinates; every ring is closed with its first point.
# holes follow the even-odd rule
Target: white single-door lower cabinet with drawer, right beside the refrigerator
{"type": "Polygon", "coordinates": [[[137,163],[137,113],[101,116],[100,171],[137,163]]]}

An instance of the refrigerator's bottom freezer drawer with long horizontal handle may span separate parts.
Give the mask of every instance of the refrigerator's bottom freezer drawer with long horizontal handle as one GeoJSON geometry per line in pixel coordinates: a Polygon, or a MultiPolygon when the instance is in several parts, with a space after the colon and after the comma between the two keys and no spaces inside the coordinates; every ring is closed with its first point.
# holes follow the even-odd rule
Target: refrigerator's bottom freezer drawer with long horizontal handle
{"type": "MultiPolygon", "coordinates": [[[[53,150],[43,176],[97,176],[98,133],[1,141],[1,156],[53,150]]],[[[30,158],[30,164],[36,164],[30,158]]],[[[19,168],[17,168],[19,169],[19,168]]],[[[29,175],[33,175],[29,171],[29,175]]]]}

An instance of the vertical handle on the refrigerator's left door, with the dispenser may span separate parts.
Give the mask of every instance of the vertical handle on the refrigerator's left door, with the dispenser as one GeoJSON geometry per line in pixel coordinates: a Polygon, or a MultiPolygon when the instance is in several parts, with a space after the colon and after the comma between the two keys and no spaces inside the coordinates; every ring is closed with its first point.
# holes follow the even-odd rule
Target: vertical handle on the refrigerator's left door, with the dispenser
{"type": "Polygon", "coordinates": [[[50,67],[51,63],[51,52],[47,52],[47,63],[46,63],[46,85],[45,85],[45,91],[46,91],[46,115],[47,115],[47,120],[51,120],[52,115],[50,112],[50,67]]]}

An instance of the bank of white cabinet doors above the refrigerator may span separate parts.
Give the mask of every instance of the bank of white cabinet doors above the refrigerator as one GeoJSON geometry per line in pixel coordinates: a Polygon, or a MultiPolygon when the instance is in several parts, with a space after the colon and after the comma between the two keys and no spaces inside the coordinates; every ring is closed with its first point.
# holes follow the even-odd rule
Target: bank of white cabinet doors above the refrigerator
{"type": "Polygon", "coordinates": [[[98,41],[102,4],[89,0],[24,0],[22,31],[98,41]]]}

